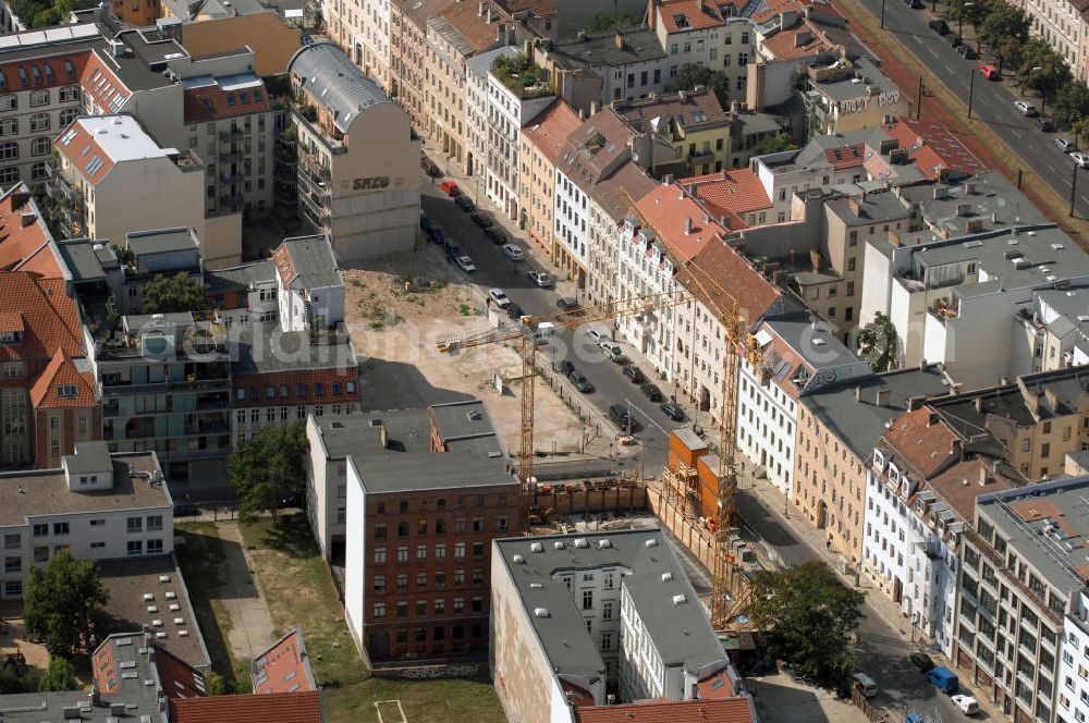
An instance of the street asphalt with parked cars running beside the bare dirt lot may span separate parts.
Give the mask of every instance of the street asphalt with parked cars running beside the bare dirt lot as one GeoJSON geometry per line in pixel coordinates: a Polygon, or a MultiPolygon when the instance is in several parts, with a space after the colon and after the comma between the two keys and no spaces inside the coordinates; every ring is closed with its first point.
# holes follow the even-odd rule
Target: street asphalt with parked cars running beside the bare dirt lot
{"type": "MultiPolygon", "coordinates": [[[[473,197],[472,193],[469,197],[473,197]]],[[[430,183],[426,183],[425,186],[423,207],[428,218],[461,248],[461,253],[472,257],[477,270],[473,273],[464,273],[461,269],[457,271],[463,273],[469,283],[476,284],[481,295],[487,296],[489,289],[499,287],[506,292],[511,301],[521,306],[526,315],[555,314],[559,310],[555,303],[561,294],[554,287],[539,289],[529,280],[530,271],[552,270],[536,264],[529,257],[527,244],[523,238],[512,237],[510,232],[503,231],[507,236],[507,243],[521,247],[526,257],[525,261],[515,265],[503,255],[501,246],[493,244],[469,220],[467,212],[457,208],[452,199],[443,196],[441,191],[432,187],[430,183]]],[[[494,219],[494,215],[488,208],[477,211],[489,219],[494,219]]],[[[498,223],[495,228],[499,228],[498,223]]],[[[609,328],[603,321],[590,326],[601,330],[609,328]]],[[[540,347],[538,356],[554,365],[570,359],[595,387],[595,391],[584,394],[583,399],[602,414],[608,415],[609,406],[617,403],[625,404],[632,409],[633,418],[643,427],[636,433],[643,443],[643,449],[631,457],[624,457],[617,465],[636,475],[641,467],[648,476],[657,476],[665,464],[669,430],[684,425],[670,420],[659,408],[660,402],[648,401],[639,391],[639,385],[632,383],[623,375],[622,365],[607,359],[604,353],[586,335],[585,329],[586,327],[578,327],[572,331],[560,332],[551,343],[540,347]]],[[[632,352],[623,342],[620,342],[620,346],[625,353],[632,352]]],[[[659,387],[666,397],[672,392],[671,384],[660,383],[659,387]]],[[[686,409],[686,413],[689,410],[686,409]]]]}

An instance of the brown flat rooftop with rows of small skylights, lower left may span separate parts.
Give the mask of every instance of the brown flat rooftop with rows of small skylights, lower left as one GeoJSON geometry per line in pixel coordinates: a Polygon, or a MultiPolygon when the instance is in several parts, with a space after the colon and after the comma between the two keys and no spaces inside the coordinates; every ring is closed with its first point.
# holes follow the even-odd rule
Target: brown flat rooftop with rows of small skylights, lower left
{"type": "Polygon", "coordinates": [[[211,664],[174,555],[103,560],[99,567],[102,584],[110,591],[103,624],[107,634],[147,626],[157,646],[193,667],[204,670],[211,664]],[[151,600],[145,599],[148,595],[151,600]]]}

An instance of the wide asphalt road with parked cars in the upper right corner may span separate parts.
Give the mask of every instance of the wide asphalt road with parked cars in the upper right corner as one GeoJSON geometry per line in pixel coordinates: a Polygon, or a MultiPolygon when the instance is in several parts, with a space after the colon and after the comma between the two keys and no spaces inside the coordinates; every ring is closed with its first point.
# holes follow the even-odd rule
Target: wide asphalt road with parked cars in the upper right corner
{"type": "MultiPolygon", "coordinates": [[[[864,0],[864,7],[874,17],[881,16],[882,0],[864,0]]],[[[928,9],[930,3],[927,2],[928,9]]],[[[901,42],[926,65],[931,73],[964,101],[968,100],[971,90],[971,114],[987,123],[1005,140],[1006,145],[1017,155],[1026,171],[1039,175],[1062,198],[1069,199],[1070,183],[1077,167],[1069,156],[1059,149],[1055,138],[1062,133],[1043,133],[1036,119],[1026,118],[1014,108],[1014,101],[1021,98],[1002,83],[987,81],[979,73],[979,65],[991,62],[987,59],[987,47],[982,48],[982,58],[965,60],[950,47],[945,38],[927,26],[933,17],[929,10],[911,10],[902,0],[885,0],[885,30],[894,34],[901,42]],[[975,77],[975,81],[972,81],[975,77]]],[[[952,33],[957,32],[957,23],[950,22],[952,33]]],[[[996,61],[995,61],[996,65],[996,61]]],[[[1008,76],[1011,71],[1004,70],[1008,76]]],[[[918,88],[901,88],[903,93],[917,97],[918,88]]],[[[1025,98],[1038,109],[1041,100],[1035,96],[1025,98]]],[[[933,98],[922,99],[922,120],[927,120],[927,103],[938,102],[933,98]]],[[[1080,139],[1084,148],[1089,138],[1080,139]]],[[[1075,213],[1082,217],[1089,213],[1089,177],[1082,171],[1077,171],[1077,197],[1075,213]]]]}

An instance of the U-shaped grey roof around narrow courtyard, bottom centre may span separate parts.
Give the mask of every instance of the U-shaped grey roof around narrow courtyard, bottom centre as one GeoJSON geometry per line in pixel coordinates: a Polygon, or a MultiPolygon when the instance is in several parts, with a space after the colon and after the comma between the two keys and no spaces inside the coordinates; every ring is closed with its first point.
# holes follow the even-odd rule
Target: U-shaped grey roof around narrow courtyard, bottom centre
{"type": "Polygon", "coordinates": [[[696,673],[719,660],[724,664],[707,612],[661,529],[518,537],[492,544],[556,675],[605,674],[583,612],[559,576],[607,567],[620,574],[620,585],[631,595],[663,665],[696,673]],[[576,539],[585,540],[585,547],[576,547],[576,539]],[[524,562],[515,562],[515,555],[524,562]],[[684,596],[680,604],[674,602],[677,595],[684,596]],[[547,609],[548,616],[535,614],[537,608],[547,609]]]}

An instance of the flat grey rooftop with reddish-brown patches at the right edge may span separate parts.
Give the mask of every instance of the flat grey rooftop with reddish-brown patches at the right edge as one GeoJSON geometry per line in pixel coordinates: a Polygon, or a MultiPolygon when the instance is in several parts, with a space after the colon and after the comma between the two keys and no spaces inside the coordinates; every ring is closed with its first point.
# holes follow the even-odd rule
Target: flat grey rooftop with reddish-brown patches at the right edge
{"type": "Polygon", "coordinates": [[[1029,485],[976,499],[1017,554],[1069,593],[1089,580],[1089,476],[1029,485]]]}

